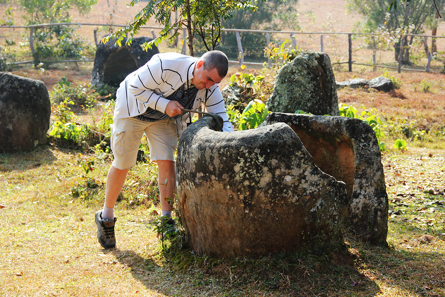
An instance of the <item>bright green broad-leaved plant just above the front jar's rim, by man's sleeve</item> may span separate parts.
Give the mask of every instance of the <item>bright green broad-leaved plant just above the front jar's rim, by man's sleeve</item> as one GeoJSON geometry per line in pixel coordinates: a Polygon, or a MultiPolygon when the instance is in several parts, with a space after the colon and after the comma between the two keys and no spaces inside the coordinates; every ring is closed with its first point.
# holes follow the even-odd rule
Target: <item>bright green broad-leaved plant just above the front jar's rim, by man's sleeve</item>
{"type": "Polygon", "coordinates": [[[269,109],[268,105],[255,99],[249,102],[242,113],[235,110],[233,105],[229,105],[227,114],[230,121],[237,126],[238,130],[242,131],[257,128],[269,114],[269,109]]]}

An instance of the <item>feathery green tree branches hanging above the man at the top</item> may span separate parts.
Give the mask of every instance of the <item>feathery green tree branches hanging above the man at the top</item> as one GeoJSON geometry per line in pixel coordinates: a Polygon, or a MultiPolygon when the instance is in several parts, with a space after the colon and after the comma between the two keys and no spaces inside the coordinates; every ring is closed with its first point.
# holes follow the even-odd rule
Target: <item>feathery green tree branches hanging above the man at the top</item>
{"type": "MultiPolygon", "coordinates": [[[[140,0],[132,0],[128,6],[135,6],[140,0]]],[[[110,38],[116,40],[116,44],[121,45],[125,37],[128,37],[126,44],[130,45],[132,39],[138,34],[141,26],[148,20],[154,21],[164,26],[159,36],[150,41],[145,47],[151,48],[154,44],[158,46],[163,40],[172,41],[179,36],[183,28],[188,32],[188,47],[190,55],[193,53],[193,38],[196,34],[201,37],[208,50],[215,49],[221,38],[221,21],[232,16],[235,10],[255,10],[256,7],[246,0],[224,0],[214,2],[213,0],[203,0],[200,2],[190,0],[161,0],[150,1],[135,16],[135,20],[130,25],[108,35],[104,41],[110,38]],[[177,18],[172,18],[172,13],[177,12],[177,18]],[[128,36],[129,35],[129,36],[128,36]]],[[[185,40],[183,40],[185,42],[185,40]]]]}

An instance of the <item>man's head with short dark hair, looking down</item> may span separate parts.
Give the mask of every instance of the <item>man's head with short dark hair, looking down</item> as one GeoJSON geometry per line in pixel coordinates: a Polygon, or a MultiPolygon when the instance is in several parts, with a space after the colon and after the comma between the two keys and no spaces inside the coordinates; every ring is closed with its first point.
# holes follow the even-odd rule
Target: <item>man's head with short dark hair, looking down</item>
{"type": "Polygon", "coordinates": [[[229,69],[229,60],[221,51],[210,51],[202,55],[193,70],[192,83],[198,90],[209,89],[221,82],[229,69]]]}

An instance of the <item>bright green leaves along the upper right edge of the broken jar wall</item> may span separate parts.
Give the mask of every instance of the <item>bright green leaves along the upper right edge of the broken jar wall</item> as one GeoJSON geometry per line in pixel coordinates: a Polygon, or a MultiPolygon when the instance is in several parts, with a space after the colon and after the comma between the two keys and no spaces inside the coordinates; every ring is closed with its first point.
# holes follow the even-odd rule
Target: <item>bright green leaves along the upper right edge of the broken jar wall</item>
{"type": "Polygon", "coordinates": [[[375,137],[377,138],[377,142],[379,142],[380,151],[385,150],[385,142],[382,141],[382,138],[385,137],[385,133],[383,132],[383,123],[379,116],[373,113],[373,111],[364,110],[361,113],[357,111],[357,109],[345,105],[343,103],[339,104],[340,116],[360,119],[371,126],[372,130],[375,133],[375,137]]]}

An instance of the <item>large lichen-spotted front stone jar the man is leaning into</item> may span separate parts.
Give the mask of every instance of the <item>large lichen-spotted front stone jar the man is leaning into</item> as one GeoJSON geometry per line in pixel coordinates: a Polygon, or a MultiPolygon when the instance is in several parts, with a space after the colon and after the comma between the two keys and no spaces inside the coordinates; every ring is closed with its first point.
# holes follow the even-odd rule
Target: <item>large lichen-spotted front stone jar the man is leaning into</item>
{"type": "Polygon", "coordinates": [[[192,249],[217,257],[339,248],[348,198],[285,123],[216,132],[205,116],[179,139],[177,200],[192,249]]]}

